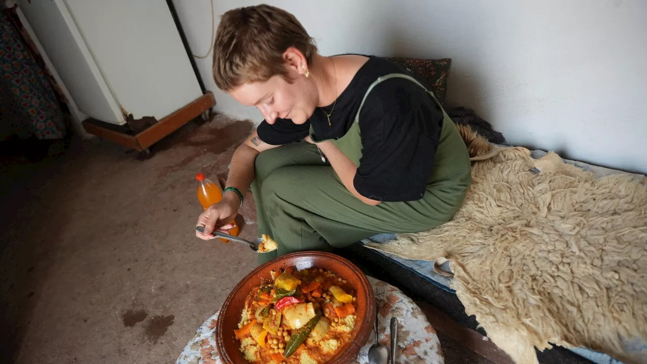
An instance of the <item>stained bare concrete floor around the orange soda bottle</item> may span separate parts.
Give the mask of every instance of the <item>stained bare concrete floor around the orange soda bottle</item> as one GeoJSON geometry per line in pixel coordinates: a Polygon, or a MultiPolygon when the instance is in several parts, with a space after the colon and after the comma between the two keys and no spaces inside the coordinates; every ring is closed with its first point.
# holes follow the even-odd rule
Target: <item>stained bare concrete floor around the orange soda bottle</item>
{"type": "MultiPolygon", "coordinates": [[[[0,361],[175,363],[256,267],[250,249],[193,233],[195,174],[224,179],[251,130],[191,122],[144,161],[100,139],[39,163],[0,159],[0,361]]],[[[256,237],[254,210],[248,198],[241,236],[256,237]]],[[[466,350],[446,362],[488,363],[466,350]]]]}

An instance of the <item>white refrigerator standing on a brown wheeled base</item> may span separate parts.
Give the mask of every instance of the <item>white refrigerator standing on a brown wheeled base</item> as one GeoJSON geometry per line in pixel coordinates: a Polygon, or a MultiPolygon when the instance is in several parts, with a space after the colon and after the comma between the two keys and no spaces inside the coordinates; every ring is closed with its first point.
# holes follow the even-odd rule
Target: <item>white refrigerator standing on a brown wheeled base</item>
{"type": "Polygon", "coordinates": [[[74,104],[99,124],[136,135],[204,98],[167,1],[17,3],[74,104]]]}

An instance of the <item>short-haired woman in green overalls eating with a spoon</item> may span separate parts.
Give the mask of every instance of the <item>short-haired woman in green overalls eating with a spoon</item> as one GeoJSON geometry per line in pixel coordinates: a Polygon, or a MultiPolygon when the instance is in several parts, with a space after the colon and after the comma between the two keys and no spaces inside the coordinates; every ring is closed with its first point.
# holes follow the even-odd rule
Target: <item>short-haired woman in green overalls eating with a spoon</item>
{"type": "Polygon", "coordinates": [[[230,228],[250,186],[259,234],[280,245],[261,263],[432,229],[465,197],[468,152],[428,86],[375,56],[318,54],[284,10],[226,12],[214,80],[265,120],[234,153],[225,196],[198,218],[199,238],[230,228]]]}

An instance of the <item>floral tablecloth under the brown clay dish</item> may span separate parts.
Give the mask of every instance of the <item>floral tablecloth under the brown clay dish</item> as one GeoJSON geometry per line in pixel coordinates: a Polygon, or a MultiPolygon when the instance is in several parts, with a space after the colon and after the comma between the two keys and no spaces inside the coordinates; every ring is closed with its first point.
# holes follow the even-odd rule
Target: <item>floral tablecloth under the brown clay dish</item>
{"type": "MultiPolygon", "coordinates": [[[[380,343],[389,346],[389,323],[398,318],[397,363],[443,364],[443,352],[435,330],[420,308],[402,291],[386,282],[368,277],[378,304],[380,343]]],[[[215,325],[218,313],[206,319],[193,339],[184,347],[175,364],[221,364],[215,348],[215,325]]],[[[360,350],[356,364],[368,363],[368,349],[375,343],[375,332],[360,350]]]]}

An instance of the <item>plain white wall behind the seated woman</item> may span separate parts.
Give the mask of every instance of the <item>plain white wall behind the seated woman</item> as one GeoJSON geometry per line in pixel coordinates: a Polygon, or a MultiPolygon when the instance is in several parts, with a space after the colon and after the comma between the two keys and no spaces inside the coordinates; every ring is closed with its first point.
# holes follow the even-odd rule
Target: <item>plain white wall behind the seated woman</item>
{"type": "MultiPolygon", "coordinates": [[[[211,41],[208,0],[174,0],[193,52],[211,41]]],[[[258,1],[214,0],[219,17],[258,1]]],[[[512,144],[647,173],[647,1],[267,1],[325,55],[450,57],[447,104],[473,108],[512,144]]],[[[260,121],[216,90],[216,109],[260,121]]]]}

